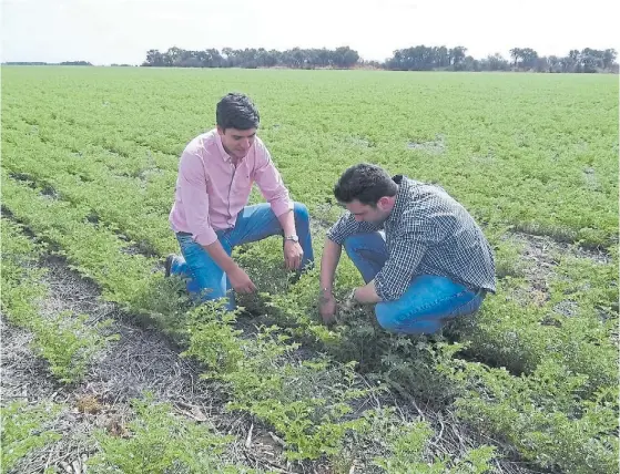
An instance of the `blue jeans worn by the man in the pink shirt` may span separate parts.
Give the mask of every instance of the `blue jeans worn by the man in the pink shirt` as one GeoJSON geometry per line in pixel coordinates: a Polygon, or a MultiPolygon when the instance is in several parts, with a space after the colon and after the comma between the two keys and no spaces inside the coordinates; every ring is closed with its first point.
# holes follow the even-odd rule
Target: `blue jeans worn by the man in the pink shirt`
{"type": "MultiPolygon", "coordinates": [[[[312,237],[309,233],[309,214],[306,206],[295,203],[295,228],[299,245],[304,250],[302,268],[314,261],[312,237]]],[[[274,235],[283,235],[279,220],[267,203],[244,207],[237,215],[235,226],[231,229],[217,230],[217,239],[224,251],[232,254],[237,245],[262,240],[274,235]]],[[[197,244],[191,234],[177,233],[176,240],[183,257],[175,256],[171,265],[171,275],[187,279],[187,291],[201,300],[218,299],[231,290],[231,282],[224,270],[211,258],[209,253],[197,244]]],[[[234,309],[234,296],[228,295],[227,308],[234,309]]]]}

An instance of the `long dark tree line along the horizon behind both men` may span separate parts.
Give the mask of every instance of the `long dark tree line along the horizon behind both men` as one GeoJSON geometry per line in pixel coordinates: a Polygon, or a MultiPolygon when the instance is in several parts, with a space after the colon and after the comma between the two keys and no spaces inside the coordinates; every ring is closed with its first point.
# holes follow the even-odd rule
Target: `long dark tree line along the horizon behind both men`
{"type": "Polygon", "coordinates": [[[328,49],[294,48],[286,51],[264,48],[183,50],[170,48],[165,52],[149,50],[142,66],[154,68],[293,68],[350,69],[369,66],[390,71],[535,71],[535,72],[618,72],[613,49],[586,48],[571,50],[566,56],[540,56],[531,48],[514,48],[510,59],[496,53],[484,59],[467,54],[465,47],[425,47],[424,44],[396,50],[385,62],[364,61],[348,47],[328,49]]]}

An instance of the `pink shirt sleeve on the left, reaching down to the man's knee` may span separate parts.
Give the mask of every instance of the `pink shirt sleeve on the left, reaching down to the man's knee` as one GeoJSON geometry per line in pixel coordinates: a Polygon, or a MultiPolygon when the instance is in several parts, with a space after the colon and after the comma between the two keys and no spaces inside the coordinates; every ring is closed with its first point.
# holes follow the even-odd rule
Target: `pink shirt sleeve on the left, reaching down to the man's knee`
{"type": "Polygon", "coordinates": [[[201,157],[183,153],[179,164],[179,189],[187,227],[195,241],[206,246],[217,240],[209,218],[207,177],[201,157]]]}

